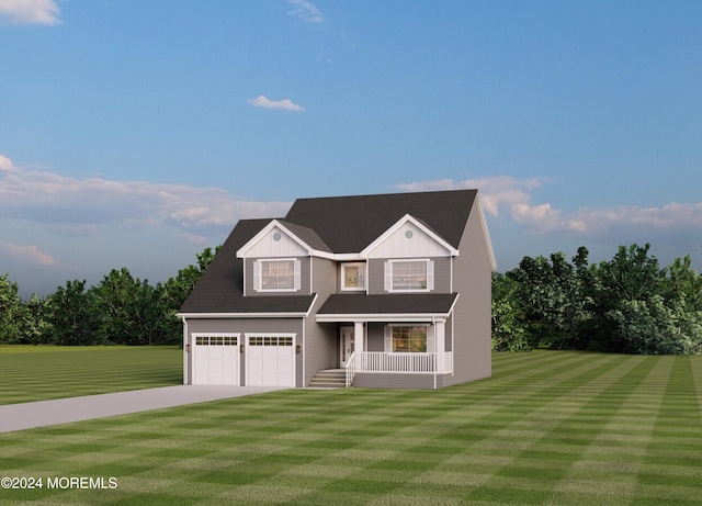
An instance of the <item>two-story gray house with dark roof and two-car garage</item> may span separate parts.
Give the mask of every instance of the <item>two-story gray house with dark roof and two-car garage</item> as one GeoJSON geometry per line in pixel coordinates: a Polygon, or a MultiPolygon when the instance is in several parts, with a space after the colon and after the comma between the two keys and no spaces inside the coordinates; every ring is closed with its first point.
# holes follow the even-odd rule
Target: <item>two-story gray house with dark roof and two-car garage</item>
{"type": "Polygon", "coordinates": [[[299,199],[241,220],[179,313],[184,383],[487,378],[494,270],[477,190],[299,199]]]}

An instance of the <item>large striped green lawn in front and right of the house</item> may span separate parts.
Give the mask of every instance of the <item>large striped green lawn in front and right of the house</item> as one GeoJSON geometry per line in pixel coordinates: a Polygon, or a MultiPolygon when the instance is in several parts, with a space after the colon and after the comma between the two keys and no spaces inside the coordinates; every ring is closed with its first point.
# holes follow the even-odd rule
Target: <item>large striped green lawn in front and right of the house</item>
{"type": "Polygon", "coordinates": [[[0,476],[116,479],[0,504],[702,505],[702,357],[492,364],[440,391],[280,391],[0,434],[0,476]]]}

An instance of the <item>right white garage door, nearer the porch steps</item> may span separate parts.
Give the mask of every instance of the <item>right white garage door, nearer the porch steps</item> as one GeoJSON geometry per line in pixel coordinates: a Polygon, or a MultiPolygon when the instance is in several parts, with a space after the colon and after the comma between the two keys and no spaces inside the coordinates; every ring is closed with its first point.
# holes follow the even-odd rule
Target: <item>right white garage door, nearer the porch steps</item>
{"type": "Polygon", "coordinates": [[[247,385],[295,386],[294,336],[248,336],[247,385]]]}

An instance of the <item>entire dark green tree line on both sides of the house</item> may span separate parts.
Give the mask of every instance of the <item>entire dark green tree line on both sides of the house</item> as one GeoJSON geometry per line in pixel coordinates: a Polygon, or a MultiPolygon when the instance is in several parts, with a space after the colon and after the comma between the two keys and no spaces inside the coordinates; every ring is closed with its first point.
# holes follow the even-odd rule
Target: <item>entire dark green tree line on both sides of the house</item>
{"type": "MultiPolygon", "coordinates": [[[[570,261],[563,252],[524,257],[494,273],[492,348],[702,353],[702,274],[689,256],[661,268],[649,248],[620,246],[611,260],[590,265],[580,247],[570,261]]],[[[176,314],[218,249],[205,248],[196,266],[156,285],[122,268],[97,285],[67,281],[23,301],[0,276],[0,344],[180,344],[176,314]]]]}

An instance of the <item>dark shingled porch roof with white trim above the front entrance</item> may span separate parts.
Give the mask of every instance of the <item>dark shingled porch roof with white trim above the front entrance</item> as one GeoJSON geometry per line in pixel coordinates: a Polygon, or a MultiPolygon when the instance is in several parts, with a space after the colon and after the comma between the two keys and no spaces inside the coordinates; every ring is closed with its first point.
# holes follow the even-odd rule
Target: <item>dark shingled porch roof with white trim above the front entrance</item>
{"type": "Polygon", "coordinates": [[[335,293],[317,312],[318,322],[350,319],[430,319],[449,317],[457,293],[335,293]]]}

